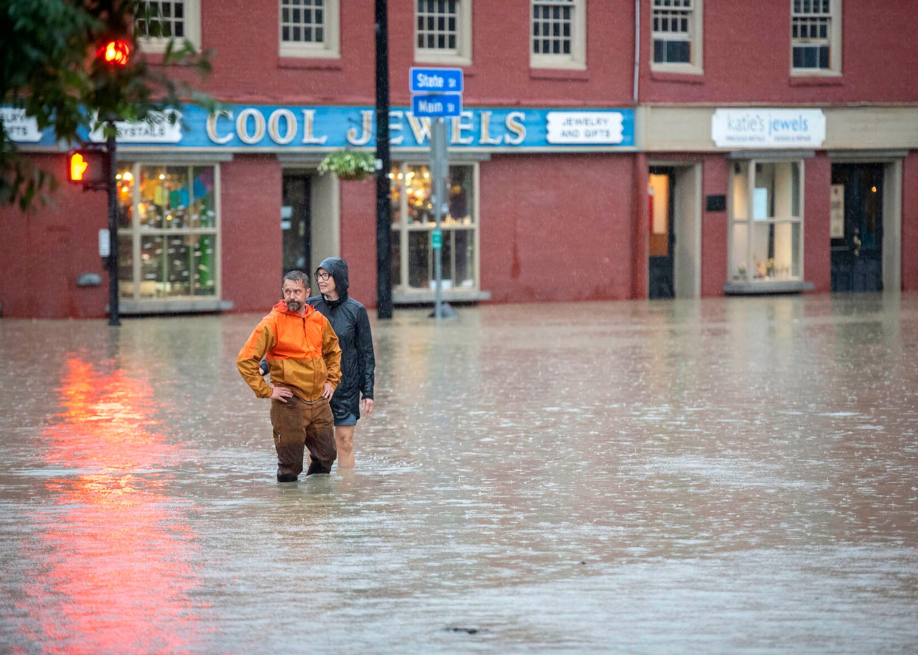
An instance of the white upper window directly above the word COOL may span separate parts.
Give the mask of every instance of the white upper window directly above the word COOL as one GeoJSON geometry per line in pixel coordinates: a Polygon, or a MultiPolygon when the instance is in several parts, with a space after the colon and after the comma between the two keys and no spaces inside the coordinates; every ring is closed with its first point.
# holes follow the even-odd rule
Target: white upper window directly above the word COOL
{"type": "Polygon", "coordinates": [[[282,57],[340,57],[338,0],[280,0],[282,57]]]}

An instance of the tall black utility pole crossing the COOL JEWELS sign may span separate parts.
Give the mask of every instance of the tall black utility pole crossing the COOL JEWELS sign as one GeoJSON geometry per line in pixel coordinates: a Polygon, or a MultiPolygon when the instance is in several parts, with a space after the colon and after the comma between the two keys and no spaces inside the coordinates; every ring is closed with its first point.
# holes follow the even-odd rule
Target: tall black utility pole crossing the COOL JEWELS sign
{"type": "Polygon", "coordinates": [[[389,37],[386,0],[376,8],[376,316],[392,317],[392,209],[389,199],[389,37]]]}

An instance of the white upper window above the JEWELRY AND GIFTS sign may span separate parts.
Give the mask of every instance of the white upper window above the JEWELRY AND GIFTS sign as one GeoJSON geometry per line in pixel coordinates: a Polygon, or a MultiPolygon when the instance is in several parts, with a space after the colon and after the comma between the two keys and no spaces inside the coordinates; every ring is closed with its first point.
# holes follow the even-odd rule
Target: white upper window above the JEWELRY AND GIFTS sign
{"type": "Polygon", "coordinates": [[[583,0],[532,0],[533,68],[586,69],[583,0]]]}

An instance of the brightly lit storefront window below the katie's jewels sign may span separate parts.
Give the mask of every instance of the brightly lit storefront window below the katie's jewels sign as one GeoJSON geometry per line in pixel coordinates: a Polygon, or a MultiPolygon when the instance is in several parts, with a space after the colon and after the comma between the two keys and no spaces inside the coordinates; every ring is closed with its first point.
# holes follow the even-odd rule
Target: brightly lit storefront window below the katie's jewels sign
{"type": "Polygon", "coordinates": [[[800,161],[740,161],[731,183],[731,277],[737,282],[803,275],[800,161]]]}

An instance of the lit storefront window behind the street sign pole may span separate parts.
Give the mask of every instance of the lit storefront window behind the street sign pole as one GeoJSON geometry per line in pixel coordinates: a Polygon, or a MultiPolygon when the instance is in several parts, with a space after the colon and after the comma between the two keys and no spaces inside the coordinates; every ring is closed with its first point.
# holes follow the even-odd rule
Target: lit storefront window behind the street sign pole
{"type": "MultiPolygon", "coordinates": [[[[397,163],[389,172],[392,183],[392,284],[402,291],[430,291],[434,287],[436,227],[431,170],[427,164],[397,163]]],[[[447,213],[441,217],[442,288],[478,288],[476,273],[477,225],[475,167],[450,166],[447,213]]]]}

